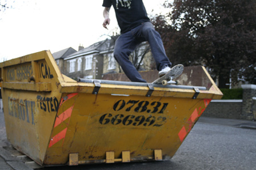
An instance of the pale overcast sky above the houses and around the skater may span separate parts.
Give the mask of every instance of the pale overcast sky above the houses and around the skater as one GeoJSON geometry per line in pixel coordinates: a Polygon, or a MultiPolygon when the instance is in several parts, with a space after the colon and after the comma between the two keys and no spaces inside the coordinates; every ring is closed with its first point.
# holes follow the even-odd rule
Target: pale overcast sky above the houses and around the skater
{"type": "MultiPolygon", "coordinates": [[[[110,9],[109,29],[102,27],[102,0],[3,1],[13,8],[0,12],[0,62],[42,50],[78,50],[80,44],[92,45],[118,28],[114,8],[110,9]]],[[[143,0],[151,15],[163,11],[164,1],[143,0]]]]}

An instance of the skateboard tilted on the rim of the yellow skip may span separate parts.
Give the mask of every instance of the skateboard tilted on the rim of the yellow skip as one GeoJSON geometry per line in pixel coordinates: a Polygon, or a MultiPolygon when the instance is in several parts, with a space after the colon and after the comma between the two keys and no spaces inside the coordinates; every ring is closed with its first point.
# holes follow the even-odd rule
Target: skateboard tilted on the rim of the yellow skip
{"type": "Polygon", "coordinates": [[[171,70],[166,73],[166,75],[163,75],[160,78],[156,79],[154,82],[152,82],[152,84],[163,84],[164,86],[166,86],[167,84],[177,84],[174,79],[182,74],[183,69],[183,65],[176,65],[172,67],[171,70]]]}

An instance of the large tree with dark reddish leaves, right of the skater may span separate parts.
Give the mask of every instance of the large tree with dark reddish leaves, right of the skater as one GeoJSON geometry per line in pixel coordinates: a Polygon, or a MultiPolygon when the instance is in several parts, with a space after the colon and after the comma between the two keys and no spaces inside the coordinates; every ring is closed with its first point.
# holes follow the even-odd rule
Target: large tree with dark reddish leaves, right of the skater
{"type": "Polygon", "coordinates": [[[256,83],[255,0],[174,0],[164,6],[172,12],[154,21],[171,60],[204,64],[221,88],[230,75],[233,83],[256,83]]]}

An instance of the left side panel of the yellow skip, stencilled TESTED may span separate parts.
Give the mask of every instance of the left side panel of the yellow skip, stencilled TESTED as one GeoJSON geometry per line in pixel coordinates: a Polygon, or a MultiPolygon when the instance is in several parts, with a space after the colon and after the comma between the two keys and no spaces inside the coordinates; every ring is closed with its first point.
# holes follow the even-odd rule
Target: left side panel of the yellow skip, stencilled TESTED
{"type": "MultiPolygon", "coordinates": [[[[43,164],[61,94],[49,52],[0,63],[7,138],[18,150],[43,164]],[[34,76],[35,82],[28,82],[34,76]],[[54,85],[53,85],[54,84],[54,85]]],[[[54,61],[54,59],[52,59],[54,61]]]]}

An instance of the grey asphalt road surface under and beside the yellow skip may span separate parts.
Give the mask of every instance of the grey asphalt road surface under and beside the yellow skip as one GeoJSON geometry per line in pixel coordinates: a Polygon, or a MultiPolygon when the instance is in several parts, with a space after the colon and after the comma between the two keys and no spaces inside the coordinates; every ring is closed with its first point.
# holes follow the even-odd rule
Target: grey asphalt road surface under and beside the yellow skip
{"type": "MultiPolygon", "coordinates": [[[[196,123],[175,156],[166,162],[79,165],[75,167],[44,167],[41,169],[246,169],[256,170],[256,130],[236,128],[225,120],[196,123]],[[209,123],[211,122],[211,123],[209,123]]],[[[232,121],[232,120],[231,120],[232,121]]],[[[233,123],[234,125],[234,123],[233,123]]],[[[0,112],[0,145],[6,139],[3,112],[0,112]]],[[[1,169],[1,167],[0,167],[1,169]]]]}

